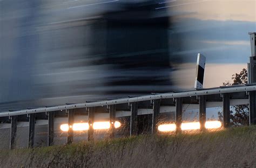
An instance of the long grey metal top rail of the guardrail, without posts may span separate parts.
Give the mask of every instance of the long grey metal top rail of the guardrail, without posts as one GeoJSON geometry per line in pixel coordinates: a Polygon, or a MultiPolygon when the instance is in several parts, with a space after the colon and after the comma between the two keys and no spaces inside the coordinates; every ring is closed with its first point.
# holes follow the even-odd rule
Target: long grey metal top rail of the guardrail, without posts
{"type": "Polygon", "coordinates": [[[180,93],[164,93],[164,94],[157,94],[157,95],[147,95],[147,96],[125,98],[125,99],[108,100],[108,101],[69,104],[64,106],[25,109],[25,110],[18,110],[18,111],[7,111],[7,112],[0,113],[0,117],[33,114],[33,113],[44,113],[44,112],[50,112],[50,111],[68,110],[68,109],[76,109],[76,108],[109,106],[113,104],[123,104],[123,103],[141,102],[141,101],[158,100],[158,99],[171,99],[171,98],[174,99],[178,97],[225,94],[225,93],[235,93],[235,92],[250,92],[254,90],[256,90],[256,84],[251,86],[238,85],[238,86],[231,86],[231,87],[225,87],[225,88],[212,88],[212,89],[210,88],[210,89],[192,90],[192,91],[180,92],[180,93]]]}

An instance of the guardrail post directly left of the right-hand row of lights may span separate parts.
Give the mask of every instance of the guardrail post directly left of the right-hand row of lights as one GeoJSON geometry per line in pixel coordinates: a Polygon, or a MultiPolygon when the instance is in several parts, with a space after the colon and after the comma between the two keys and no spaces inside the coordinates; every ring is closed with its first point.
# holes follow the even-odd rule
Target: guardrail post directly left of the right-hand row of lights
{"type": "Polygon", "coordinates": [[[153,101],[152,134],[157,133],[157,120],[160,114],[160,102],[161,102],[160,99],[153,101]]]}

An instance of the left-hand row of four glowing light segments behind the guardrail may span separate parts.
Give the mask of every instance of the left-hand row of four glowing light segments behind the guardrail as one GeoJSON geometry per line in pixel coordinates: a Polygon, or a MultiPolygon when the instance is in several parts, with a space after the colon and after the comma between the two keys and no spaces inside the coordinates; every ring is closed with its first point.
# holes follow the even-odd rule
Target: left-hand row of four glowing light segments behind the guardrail
{"type": "MultiPolygon", "coordinates": [[[[69,127],[73,129],[73,131],[85,131],[89,129],[89,124],[88,123],[74,123],[73,125],[62,124],[60,125],[60,130],[67,132],[69,131],[69,127]]],[[[114,128],[119,128],[119,127],[121,127],[121,123],[119,121],[115,121],[114,128]]],[[[109,121],[95,122],[93,123],[92,128],[95,130],[110,129],[110,122],[109,121]]]]}

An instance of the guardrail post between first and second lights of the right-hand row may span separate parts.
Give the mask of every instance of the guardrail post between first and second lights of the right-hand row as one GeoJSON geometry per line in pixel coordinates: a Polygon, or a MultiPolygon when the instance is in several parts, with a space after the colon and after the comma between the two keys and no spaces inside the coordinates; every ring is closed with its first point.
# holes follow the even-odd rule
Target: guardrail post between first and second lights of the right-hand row
{"type": "Polygon", "coordinates": [[[176,123],[176,133],[181,132],[181,123],[182,123],[182,98],[177,97],[176,98],[176,117],[175,117],[175,123],[176,123]]]}

